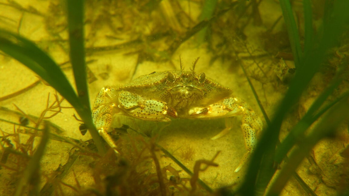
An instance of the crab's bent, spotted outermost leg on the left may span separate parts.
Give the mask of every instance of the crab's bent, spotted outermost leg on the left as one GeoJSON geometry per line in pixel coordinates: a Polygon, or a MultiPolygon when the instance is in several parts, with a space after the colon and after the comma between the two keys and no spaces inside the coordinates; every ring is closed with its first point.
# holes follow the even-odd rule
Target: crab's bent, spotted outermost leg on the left
{"type": "Polygon", "coordinates": [[[103,137],[115,153],[119,154],[116,144],[107,133],[112,121],[112,116],[115,113],[115,110],[117,110],[116,104],[113,102],[115,97],[116,90],[114,88],[102,88],[94,103],[92,119],[99,135],[103,137]]]}

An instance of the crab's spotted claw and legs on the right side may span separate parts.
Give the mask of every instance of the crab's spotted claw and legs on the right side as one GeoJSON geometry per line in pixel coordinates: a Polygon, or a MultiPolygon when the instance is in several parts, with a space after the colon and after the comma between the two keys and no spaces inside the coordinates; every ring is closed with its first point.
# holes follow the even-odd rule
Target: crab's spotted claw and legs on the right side
{"type": "Polygon", "coordinates": [[[257,135],[262,129],[262,121],[259,116],[255,114],[252,108],[242,99],[229,97],[225,98],[215,104],[211,104],[204,108],[193,108],[191,111],[191,116],[195,118],[222,118],[225,119],[226,128],[218,133],[216,136],[212,137],[212,140],[222,137],[227,134],[231,129],[231,116],[242,115],[241,129],[244,133],[245,146],[247,152],[245,153],[243,159],[240,161],[235,172],[238,172],[241,167],[248,161],[250,154],[254,151],[257,145],[257,135]]]}

